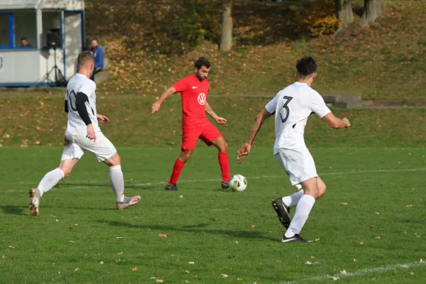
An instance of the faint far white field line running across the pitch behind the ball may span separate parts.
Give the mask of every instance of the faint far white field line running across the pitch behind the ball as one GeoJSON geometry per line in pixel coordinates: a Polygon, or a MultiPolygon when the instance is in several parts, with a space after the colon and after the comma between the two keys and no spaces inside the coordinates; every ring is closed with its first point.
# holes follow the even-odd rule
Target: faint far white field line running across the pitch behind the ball
{"type": "MultiPolygon", "coordinates": [[[[335,172],[335,173],[322,173],[320,176],[324,175],[356,175],[361,173],[403,173],[403,172],[416,172],[423,171],[426,168],[412,168],[412,169],[394,169],[394,170],[357,170],[357,171],[349,171],[349,172],[335,172]]],[[[285,178],[285,175],[261,175],[250,177],[248,180],[260,180],[260,179],[274,179],[274,178],[285,178]]],[[[192,182],[219,182],[221,179],[207,179],[207,180],[180,180],[179,183],[192,183],[192,182]]],[[[63,189],[72,190],[78,188],[93,188],[93,187],[101,187],[97,185],[91,185],[92,183],[102,183],[104,181],[94,181],[94,180],[77,180],[73,182],[65,182],[66,185],[78,185],[76,187],[65,187],[63,189]],[[85,185],[82,185],[84,183],[85,185]]],[[[131,183],[131,186],[147,186],[147,185],[165,185],[165,181],[163,182],[146,182],[146,183],[131,183]]],[[[21,185],[33,184],[36,185],[36,182],[20,182],[21,185]]],[[[126,186],[126,185],[125,185],[126,186]]],[[[59,190],[56,188],[55,190],[59,190]]],[[[23,192],[26,190],[0,190],[0,192],[23,192]]]]}

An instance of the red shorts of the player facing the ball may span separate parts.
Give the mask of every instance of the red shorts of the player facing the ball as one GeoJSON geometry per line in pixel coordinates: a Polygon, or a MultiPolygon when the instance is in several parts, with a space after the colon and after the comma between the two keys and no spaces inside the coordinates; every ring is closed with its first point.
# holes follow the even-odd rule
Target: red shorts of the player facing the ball
{"type": "Polygon", "coordinates": [[[194,150],[197,139],[200,138],[207,146],[212,145],[212,141],[221,138],[222,134],[217,128],[207,121],[204,124],[194,124],[182,127],[182,151],[194,150]]]}

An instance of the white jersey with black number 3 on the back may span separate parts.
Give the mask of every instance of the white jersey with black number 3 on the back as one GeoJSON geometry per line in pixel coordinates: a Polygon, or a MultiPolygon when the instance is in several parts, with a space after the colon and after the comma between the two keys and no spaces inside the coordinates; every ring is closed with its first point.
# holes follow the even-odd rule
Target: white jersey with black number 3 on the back
{"type": "Polygon", "coordinates": [[[280,149],[307,149],[303,137],[307,118],[312,112],[321,118],[331,112],[317,91],[300,82],[278,92],[266,110],[275,114],[274,154],[280,149]]]}

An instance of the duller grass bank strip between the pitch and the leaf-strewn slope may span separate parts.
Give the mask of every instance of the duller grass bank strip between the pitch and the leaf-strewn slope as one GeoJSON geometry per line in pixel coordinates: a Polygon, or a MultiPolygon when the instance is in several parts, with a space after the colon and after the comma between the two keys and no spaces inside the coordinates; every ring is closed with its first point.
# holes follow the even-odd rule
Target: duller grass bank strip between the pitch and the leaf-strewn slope
{"type": "MultiPolygon", "coordinates": [[[[230,146],[241,146],[254,117],[268,100],[209,97],[214,111],[228,119],[226,126],[218,128],[230,146]]],[[[168,99],[160,112],[152,115],[154,101],[153,97],[98,97],[98,112],[111,119],[109,124],[102,126],[104,133],[118,146],[178,148],[181,143],[180,98],[168,99]]],[[[62,93],[0,98],[0,145],[62,145],[67,123],[63,104],[62,93]]],[[[335,131],[312,115],[306,127],[307,145],[339,148],[424,146],[424,109],[333,111],[337,116],[347,116],[352,128],[335,131]]],[[[256,146],[272,146],[274,136],[271,118],[256,138],[256,146]]]]}

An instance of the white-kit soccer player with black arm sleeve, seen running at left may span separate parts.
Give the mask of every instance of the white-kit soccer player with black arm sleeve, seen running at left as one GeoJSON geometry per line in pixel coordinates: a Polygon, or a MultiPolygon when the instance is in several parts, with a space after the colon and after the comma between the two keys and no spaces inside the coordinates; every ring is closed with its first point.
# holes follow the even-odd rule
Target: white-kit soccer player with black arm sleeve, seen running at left
{"type": "Polygon", "coordinates": [[[38,216],[40,198],[43,194],[70,175],[84,151],[89,151],[99,162],[109,166],[109,182],[116,195],[117,209],[124,209],[141,200],[140,196],[124,196],[121,158],[114,145],[99,128],[98,120],[107,122],[109,119],[107,116],[97,114],[96,84],[89,79],[94,69],[93,55],[89,52],[80,53],[77,58],[77,68],[77,74],[67,84],[65,112],[68,113],[68,123],[60,165],[47,173],[37,188],[30,190],[29,208],[33,216],[38,216]]]}

